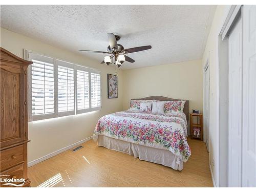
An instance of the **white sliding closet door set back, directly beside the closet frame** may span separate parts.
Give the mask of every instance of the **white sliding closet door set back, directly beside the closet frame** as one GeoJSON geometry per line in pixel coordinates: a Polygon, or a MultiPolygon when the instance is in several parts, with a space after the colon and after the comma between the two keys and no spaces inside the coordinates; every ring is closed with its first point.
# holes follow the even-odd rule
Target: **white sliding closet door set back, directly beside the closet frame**
{"type": "Polygon", "coordinates": [[[242,19],[228,37],[228,186],[241,186],[242,19]]]}

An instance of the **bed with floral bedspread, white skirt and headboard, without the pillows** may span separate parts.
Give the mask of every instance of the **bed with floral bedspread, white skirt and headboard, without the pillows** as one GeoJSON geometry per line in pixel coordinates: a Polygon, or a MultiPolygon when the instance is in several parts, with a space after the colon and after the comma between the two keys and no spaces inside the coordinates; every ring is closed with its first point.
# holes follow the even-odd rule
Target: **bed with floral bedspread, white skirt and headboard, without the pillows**
{"type": "MultiPolygon", "coordinates": [[[[133,100],[179,101],[162,96],[133,100]]],[[[181,113],[122,111],[99,119],[93,134],[98,146],[134,155],[140,160],[183,169],[191,155],[187,143],[188,100],[181,113]]]]}

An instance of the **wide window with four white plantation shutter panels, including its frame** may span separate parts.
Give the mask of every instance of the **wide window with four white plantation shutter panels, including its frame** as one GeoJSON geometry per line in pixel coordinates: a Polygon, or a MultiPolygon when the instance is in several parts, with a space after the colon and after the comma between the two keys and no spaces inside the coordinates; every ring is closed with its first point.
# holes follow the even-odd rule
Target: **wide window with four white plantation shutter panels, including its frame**
{"type": "Polygon", "coordinates": [[[29,121],[101,109],[100,71],[25,51],[29,121]]]}

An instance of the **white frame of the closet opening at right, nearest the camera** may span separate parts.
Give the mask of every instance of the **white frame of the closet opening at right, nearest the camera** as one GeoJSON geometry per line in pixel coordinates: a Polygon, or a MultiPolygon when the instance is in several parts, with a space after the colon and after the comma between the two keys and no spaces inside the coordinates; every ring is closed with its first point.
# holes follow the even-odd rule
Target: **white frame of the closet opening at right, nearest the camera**
{"type": "MultiPolygon", "coordinates": [[[[242,5],[232,5],[219,34],[219,187],[228,186],[228,37],[241,13],[242,5]]],[[[241,14],[242,17],[242,14],[241,14]]]]}

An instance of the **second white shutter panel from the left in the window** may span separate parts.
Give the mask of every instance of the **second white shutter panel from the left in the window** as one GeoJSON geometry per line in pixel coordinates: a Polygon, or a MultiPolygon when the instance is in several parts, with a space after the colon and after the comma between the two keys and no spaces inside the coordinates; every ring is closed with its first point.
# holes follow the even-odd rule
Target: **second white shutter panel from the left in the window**
{"type": "Polygon", "coordinates": [[[56,60],[58,66],[58,116],[75,114],[74,65],[56,60]]]}

